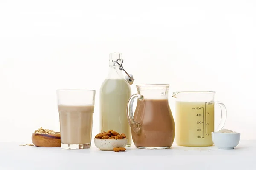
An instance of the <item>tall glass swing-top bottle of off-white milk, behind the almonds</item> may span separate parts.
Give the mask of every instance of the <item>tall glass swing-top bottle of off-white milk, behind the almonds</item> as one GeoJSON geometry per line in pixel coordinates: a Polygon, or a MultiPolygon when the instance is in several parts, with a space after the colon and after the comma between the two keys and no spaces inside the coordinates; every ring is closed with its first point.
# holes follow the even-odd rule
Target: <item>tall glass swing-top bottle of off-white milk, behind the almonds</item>
{"type": "Polygon", "coordinates": [[[131,145],[131,127],[126,116],[126,106],[131,97],[133,76],[122,66],[121,53],[109,54],[109,71],[100,88],[100,131],[115,130],[124,133],[128,138],[127,146],[131,145]],[[124,71],[127,76],[123,76],[124,71]]]}

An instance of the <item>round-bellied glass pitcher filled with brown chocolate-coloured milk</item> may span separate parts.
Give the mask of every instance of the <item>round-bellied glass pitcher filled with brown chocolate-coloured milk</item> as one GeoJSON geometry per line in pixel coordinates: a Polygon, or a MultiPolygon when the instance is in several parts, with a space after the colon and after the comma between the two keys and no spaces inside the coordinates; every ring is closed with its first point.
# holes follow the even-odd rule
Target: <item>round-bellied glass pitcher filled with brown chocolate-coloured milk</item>
{"type": "Polygon", "coordinates": [[[172,146],[175,124],[168,102],[169,85],[136,85],[138,94],[130,97],[127,118],[134,145],[142,149],[172,146]],[[138,99],[133,115],[133,102],[138,99]]]}

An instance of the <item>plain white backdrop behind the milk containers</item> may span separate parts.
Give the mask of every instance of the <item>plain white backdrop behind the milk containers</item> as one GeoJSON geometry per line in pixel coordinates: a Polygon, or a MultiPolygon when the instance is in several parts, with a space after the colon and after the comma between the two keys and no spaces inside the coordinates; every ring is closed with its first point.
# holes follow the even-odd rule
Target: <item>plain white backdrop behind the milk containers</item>
{"type": "Polygon", "coordinates": [[[254,0],[0,0],[0,141],[58,131],[63,88],[96,90],[98,133],[110,52],[122,52],[132,93],[135,84],[170,84],[175,116],[173,91],[216,91],[224,127],[256,139],[255,9],[254,0]]]}

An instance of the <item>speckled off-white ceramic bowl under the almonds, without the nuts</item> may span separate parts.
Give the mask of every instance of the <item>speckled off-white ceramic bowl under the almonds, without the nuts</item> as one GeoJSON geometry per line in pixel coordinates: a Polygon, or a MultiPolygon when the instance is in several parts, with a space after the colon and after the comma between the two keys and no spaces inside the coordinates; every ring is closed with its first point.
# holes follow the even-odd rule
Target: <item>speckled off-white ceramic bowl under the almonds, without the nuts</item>
{"type": "Polygon", "coordinates": [[[94,144],[100,150],[112,150],[114,147],[125,147],[127,144],[127,138],[123,139],[99,139],[94,138],[94,144]]]}

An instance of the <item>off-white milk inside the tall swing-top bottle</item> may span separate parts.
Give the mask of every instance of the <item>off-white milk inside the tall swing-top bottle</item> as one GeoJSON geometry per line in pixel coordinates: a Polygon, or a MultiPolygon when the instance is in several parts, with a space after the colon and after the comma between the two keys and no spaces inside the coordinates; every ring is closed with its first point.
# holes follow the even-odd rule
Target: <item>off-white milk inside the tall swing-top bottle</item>
{"type": "Polygon", "coordinates": [[[125,133],[128,138],[127,145],[131,145],[131,127],[126,116],[126,107],[131,96],[130,85],[125,79],[105,79],[100,93],[101,132],[116,130],[118,133],[125,133]]]}

